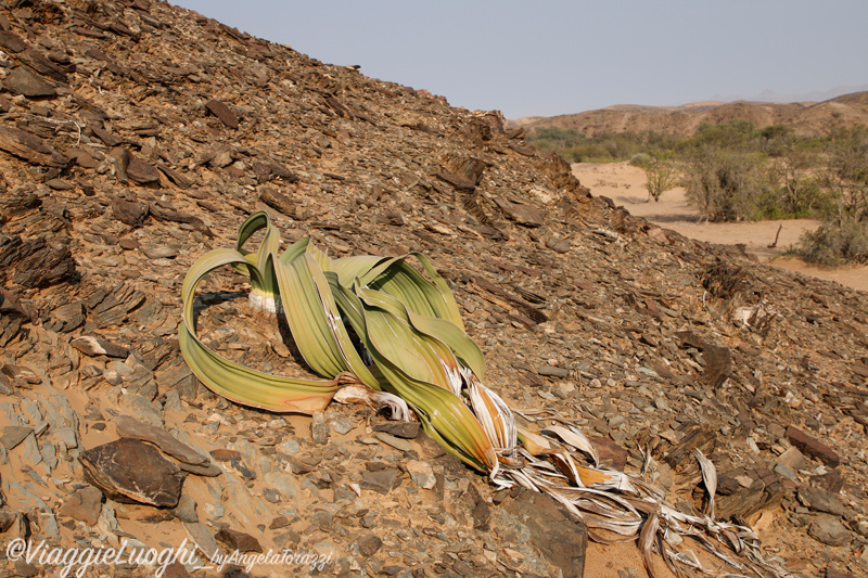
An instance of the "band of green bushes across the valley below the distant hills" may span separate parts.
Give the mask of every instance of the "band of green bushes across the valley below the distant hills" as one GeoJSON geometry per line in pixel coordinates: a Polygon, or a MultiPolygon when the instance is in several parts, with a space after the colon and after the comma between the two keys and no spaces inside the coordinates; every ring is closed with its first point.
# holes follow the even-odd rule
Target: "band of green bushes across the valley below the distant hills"
{"type": "Polygon", "coordinates": [[[529,139],[537,150],[554,151],[570,163],[629,159],[646,169],[651,198],[675,185],[661,180],[661,171],[672,167],[655,165],[667,158],[682,171],[688,201],[704,218],[824,218],[821,230],[805,241],[814,247],[805,254],[829,262],[860,258],[868,221],[866,127],[805,137],[783,125],[757,129],[733,120],[702,124],[690,138],[652,131],[588,137],[576,129],[538,128],[529,139]]]}

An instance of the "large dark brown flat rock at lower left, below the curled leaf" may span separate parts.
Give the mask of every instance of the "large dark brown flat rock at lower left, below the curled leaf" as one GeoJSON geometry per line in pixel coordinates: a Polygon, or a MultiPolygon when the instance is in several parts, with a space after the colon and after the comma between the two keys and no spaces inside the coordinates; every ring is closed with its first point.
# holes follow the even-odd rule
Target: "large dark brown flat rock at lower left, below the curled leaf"
{"type": "Polygon", "coordinates": [[[85,478],[123,503],[175,508],[183,473],[150,444],[120,438],[81,452],[85,478]]]}

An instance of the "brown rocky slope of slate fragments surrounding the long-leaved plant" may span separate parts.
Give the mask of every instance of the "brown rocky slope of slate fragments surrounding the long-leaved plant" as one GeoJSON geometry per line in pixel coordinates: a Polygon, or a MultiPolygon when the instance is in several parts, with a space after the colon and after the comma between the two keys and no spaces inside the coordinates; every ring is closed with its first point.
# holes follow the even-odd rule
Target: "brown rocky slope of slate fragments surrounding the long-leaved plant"
{"type": "MultiPolygon", "coordinates": [[[[424,252],[512,407],[575,420],[618,467],[650,451],[649,479],[685,511],[705,506],[701,448],[718,514],[755,527],[769,558],[868,570],[865,294],[617,210],[497,113],[163,2],[10,1],[0,50],[7,576],[56,570],[12,560],[28,537],[308,556],[252,576],[316,560],[326,575],[582,575],[580,524],[496,491],[412,425],[363,406],[268,414],[197,383],[178,350],[180,284],[259,208],[332,255],[424,252]]],[[[203,288],[202,334],[302,374],[240,280],[203,288]]],[[[644,571],[608,568],[596,575],[644,571]]]]}

